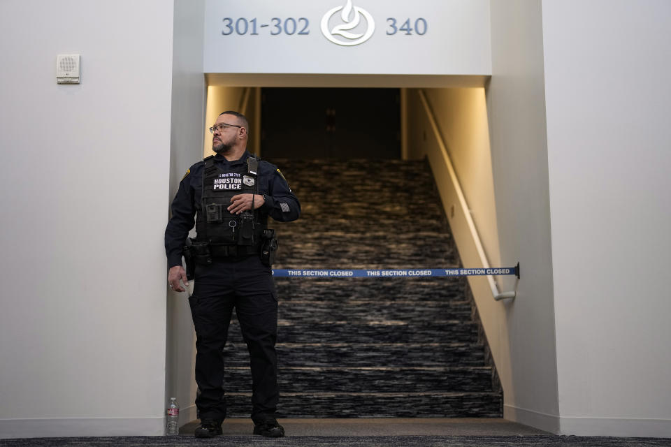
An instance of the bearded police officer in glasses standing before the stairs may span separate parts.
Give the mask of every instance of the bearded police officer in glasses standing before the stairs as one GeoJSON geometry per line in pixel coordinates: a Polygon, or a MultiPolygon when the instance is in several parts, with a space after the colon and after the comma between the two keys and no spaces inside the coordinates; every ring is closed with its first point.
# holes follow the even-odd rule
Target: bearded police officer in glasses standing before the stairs
{"type": "Polygon", "coordinates": [[[268,216],[294,221],[298,198],[276,166],[247,152],[249,122],[227,111],[210,127],[216,155],[194,164],[180,182],[166,228],[168,283],[188,286],[182,247],[196,224],[189,251],[196,260],[194,294],[189,298],[196,328],[196,397],[201,425],[196,437],[222,434],[226,417],[224,358],[233,308],[250,352],[254,434],[284,436],[275,420],[277,390],[277,295],[270,261],[277,247],[266,228],[268,216]]]}

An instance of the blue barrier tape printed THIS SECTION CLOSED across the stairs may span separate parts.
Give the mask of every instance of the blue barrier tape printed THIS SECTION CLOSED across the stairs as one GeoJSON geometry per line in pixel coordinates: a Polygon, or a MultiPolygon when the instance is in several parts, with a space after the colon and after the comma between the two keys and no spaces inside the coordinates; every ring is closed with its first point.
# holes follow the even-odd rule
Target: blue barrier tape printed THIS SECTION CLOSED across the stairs
{"type": "Polygon", "coordinates": [[[288,270],[273,269],[276,278],[390,278],[390,277],[470,277],[489,274],[514,274],[519,278],[519,264],[504,268],[432,268],[401,270],[288,270]]]}

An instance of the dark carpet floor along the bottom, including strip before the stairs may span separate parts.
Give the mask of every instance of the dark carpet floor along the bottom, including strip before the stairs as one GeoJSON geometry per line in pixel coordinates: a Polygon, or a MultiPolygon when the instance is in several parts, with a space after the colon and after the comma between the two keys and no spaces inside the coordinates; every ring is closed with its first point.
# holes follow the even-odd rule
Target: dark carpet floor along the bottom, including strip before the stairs
{"type": "Polygon", "coordinates": [[[180,427],[178,437],[71,437],[0,439],[0,447],[59,446],[544,446],[670,447],[671,439],[556,436],[500,418],[340,418],[280,419],[287,437],[253,436],[248,418],[229,418],[224,434],[195,439],[198,421],[180,427]]]}

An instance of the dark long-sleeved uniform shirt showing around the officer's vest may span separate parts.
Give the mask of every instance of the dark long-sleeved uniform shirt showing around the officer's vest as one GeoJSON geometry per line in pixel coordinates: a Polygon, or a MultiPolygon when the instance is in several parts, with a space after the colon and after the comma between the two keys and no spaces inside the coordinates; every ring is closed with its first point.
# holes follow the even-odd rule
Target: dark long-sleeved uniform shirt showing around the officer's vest
{"type": "MultiPolygon", "coordinates": [[[[236,161],[228,161],[222,155],[215,155],[215,166],[224,172],[241,164],[247,166],[245,151],[236,161]]],[[[199,161],[187,171],[187,175],[180,182],[180,189],[175,195],[171,206],[172,217],[166,226],[166,255],[168,268],[182,265],[182,247],[184,247],[189,230],[196,224],[196,203],[200,203],[203,189],[204,161],[199,161]]],[[[301,214],[301,204],[291,192],[287,180],[277,169],[277,166],[267,161],[259,161],[257,177],[258,194],[266,195],[266,203],[259,208],[259,212],[266,213],[276,221],[288,222],[298,219],[301,214]]]]}

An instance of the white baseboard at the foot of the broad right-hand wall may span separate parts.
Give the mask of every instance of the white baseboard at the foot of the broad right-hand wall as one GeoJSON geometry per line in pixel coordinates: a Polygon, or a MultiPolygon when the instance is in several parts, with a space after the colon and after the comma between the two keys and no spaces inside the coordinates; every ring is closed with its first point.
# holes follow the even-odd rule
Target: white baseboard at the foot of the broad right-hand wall
{"type": "Polygon", "coordinates": [[[669,419],[561,418],[561,434],[575,436],[612,436],[671,438],[669,419]]]}

